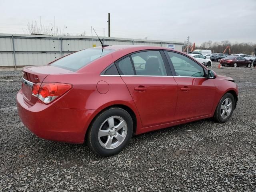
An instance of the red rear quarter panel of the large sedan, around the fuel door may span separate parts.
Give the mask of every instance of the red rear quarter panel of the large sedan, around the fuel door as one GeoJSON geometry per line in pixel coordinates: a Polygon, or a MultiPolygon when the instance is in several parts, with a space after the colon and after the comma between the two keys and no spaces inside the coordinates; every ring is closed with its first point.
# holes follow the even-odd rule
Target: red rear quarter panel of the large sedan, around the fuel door
{"type": "MultiPolygon", "coordinates": [[[[137,108],[120,76],[100,76],[93,73],[58,74],[48,75],[44,82],[62,82],[73,85],[70,91],[53,102],[58,108],[95,110],[93,114],[90,114],[91,122],[105,108],[113,105],[125,105],[136,115],[137,130],[142,128],[137,108]],[[108,83],[107,93],[98,92],[97,83],[99,81],[108,83]]],[[[90,122],[85,125],[86,130],[90,122]]]]}

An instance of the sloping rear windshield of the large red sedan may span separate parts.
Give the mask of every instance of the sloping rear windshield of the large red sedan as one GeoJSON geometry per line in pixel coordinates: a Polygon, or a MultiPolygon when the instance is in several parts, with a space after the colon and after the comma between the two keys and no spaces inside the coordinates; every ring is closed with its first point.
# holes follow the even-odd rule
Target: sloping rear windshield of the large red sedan
{"type": "Polygon", "coordinates": [[[54,61],[51,65],[71,71],[77,71],[93,60],[96,60],[97,58],[100,58],[113,51],[114,50],[110,49],[102,50],[101,48],[84,49],[66,57],[60,58],[59,60],[54,61]]]}

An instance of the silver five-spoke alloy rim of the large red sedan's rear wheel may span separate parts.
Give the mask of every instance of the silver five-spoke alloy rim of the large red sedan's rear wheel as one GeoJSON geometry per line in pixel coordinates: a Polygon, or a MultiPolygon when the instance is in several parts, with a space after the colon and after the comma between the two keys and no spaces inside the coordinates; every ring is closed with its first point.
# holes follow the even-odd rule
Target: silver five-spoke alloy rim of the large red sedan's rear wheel
{"type": "Polygon", "coordinates": [[[124,142],[126,135],[126,121],[120,116],[111,116],[101,124],[98,140],[103,148],[114,149],[124,142]]]}

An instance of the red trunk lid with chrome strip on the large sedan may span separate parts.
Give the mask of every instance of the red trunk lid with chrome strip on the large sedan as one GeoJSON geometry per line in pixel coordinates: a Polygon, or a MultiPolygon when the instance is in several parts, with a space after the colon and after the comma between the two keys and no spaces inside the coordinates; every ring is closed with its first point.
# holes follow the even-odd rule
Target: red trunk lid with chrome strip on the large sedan
{"type": "Polygon", "coordinates": [[[58,68],[51,65],[44,66],[27,66],[22,71],[22,93],[23,98],[30,105],[34,105],[37,101],[32,96],[32,87],[34,83],[42,83],[49,74],[74,73],[70,70],[58,68]]]}

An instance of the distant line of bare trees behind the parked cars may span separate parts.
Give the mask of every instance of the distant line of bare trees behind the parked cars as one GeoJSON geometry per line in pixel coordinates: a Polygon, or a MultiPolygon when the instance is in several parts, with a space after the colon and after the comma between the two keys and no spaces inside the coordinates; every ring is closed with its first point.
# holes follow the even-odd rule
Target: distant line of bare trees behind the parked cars
{"type": "MultiPolygon", "coordinates": [[[[187,45],[187,42],[184,42],[183,49],[187,45]]],[[[192,43],[190,42],[190,45],[192,46],[192,43]]],[[[222,53],[227,46],[230,46],[230,52],[231,54],[237,54],[237,53],[243,53],[243,54],[254,54],[254,49],[256,48],[255,43],[231,43],[230,41],[222,41],[222,42],[203,42],[200,46],[196,46],[196,49],[207,49],[212,50],[212,53],[222,53]]],[[[190,50],[189,50],[190,51],[190,50]]],[[[228,49],[225,52],[228,54],[228,49]]]]}

